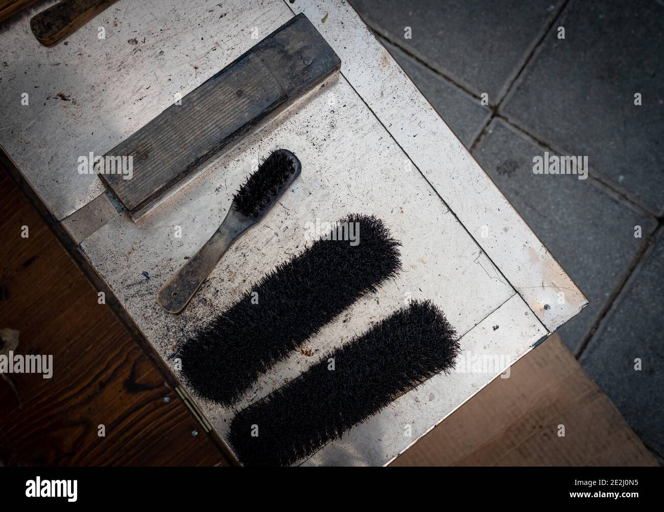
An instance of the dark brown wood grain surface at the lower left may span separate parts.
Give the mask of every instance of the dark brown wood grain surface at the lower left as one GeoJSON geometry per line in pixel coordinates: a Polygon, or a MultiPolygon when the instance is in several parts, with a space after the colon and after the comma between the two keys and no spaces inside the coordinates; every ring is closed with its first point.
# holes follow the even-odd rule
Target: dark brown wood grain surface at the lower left
{"type": "Polygon", "coordinates": [[[0,377],[0,466],[226,465],[2,169],[0,191],[0,329],[54,367],[0,377]]]}

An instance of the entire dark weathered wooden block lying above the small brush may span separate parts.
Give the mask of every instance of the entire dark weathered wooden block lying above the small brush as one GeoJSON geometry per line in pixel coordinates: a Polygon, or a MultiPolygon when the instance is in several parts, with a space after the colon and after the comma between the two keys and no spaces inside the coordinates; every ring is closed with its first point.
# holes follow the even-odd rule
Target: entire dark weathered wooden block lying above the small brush
{"type": "Polygon", "coordinates": [[[298,15],[109,151],[105,157],[133,157],[131,179],[101,177],[138,220],[340,66],[325,39],[298,15]]]}

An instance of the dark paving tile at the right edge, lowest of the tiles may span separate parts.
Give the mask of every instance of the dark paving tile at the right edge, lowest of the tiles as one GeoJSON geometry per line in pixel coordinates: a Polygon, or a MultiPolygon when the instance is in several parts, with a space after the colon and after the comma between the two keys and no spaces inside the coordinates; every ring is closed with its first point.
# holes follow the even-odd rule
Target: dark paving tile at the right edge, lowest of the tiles
{"type": "Polygon", "coordinates": [[[579,362],[643,443],[664,455],[664,229],[579,362]],[[640,359],[641,370],[635,369],[640,359]]]}

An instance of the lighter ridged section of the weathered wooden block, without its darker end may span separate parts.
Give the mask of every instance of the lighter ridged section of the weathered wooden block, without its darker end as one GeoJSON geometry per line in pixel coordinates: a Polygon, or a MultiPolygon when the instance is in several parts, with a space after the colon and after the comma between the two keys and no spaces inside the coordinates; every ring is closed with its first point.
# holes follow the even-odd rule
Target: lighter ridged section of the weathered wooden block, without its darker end
{"type": "Polygon", "coordinates": [[[122,205],[135,212],[225,145],[239,139],[286,94],[256,56],[208,80],[139,129],[109,155],[133,157],[133,176],[104,174],[122,205]]]}

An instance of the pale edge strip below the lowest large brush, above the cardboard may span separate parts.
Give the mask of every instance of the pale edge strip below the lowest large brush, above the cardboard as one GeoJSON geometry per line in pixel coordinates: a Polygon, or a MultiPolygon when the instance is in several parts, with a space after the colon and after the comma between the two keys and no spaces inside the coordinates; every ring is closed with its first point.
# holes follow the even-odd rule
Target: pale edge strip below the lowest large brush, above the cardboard
{"type": "MultiPolygon", "coordinates": [[[[463,353],[457,359],[457,369],[449,375],[436,375],[402,395],[340,440],[321,448],[305,466],[388,464],[489,384],[497,373],[527,353],[545,334],[523,299],[513,295],[459,340],[463,353]],[[468,373],[471,370],[473,373],[468,373]]],[[[510,371],[505,371],[500,378],[510,375],[510,371]]]]}

